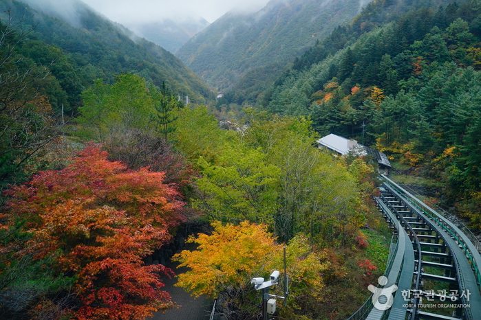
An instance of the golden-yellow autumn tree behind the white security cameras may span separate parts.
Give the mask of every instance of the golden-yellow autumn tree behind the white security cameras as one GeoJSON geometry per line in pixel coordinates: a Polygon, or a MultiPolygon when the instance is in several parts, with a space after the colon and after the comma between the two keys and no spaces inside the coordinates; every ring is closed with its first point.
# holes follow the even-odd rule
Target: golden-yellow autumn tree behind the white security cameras
{"type": "MultiPolygon", "coordinates": [[[[248,221],[240,225],[223,225],[213,222],[213,233],[199,234],[188,242],[198,244],[197,250],[182,251],[174,256],[180,266],[190,271],[178,275],[176,286],[191,291],[195,297],[209,295],[222,297],[231,315],[254,315],[260,312],[259,299],[250,280],[265,277],[274,270],[283,273],[284,244],[277,244],[266,225],[248,221]]],[[[294,315],[303,300],[321,300],[323,281],[321,273],[329,262],[323,253],[316,253],[303,236],[296,236],[287,246],[287,272],[289,276],[288,308],[279,310],[282,315],[294,315]]],[[[272,290],[276,288],[272,287],[272,290]]],[[[277,288],[281,293],[280,288],[277,288]]],[[[229,312],[225,316],[229,318],[229,312]]],[[[291,318],[292,319],[292,318],[291,318]]]]}

